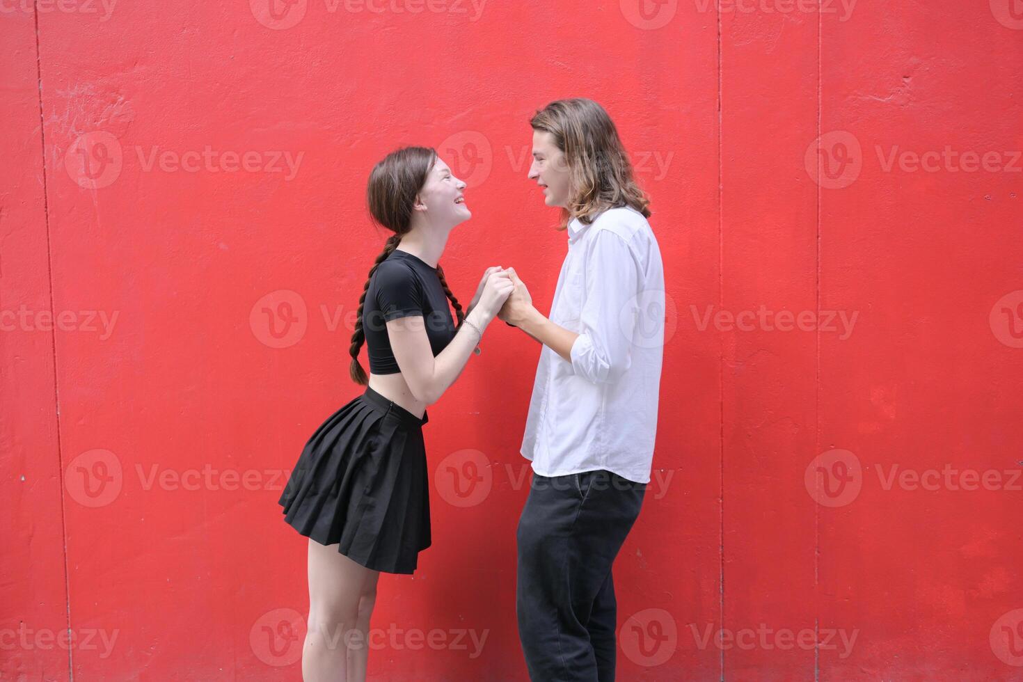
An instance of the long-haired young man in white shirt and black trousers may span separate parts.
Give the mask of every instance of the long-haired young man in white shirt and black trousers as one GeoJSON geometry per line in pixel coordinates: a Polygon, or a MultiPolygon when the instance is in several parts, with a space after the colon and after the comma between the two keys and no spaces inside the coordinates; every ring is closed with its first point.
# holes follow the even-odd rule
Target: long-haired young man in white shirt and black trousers
{"type": "Polygon", "coordinates": [[[547,206],[563,209],[568,255],[549,319],[514,269],[499,314],[543,344],[521,451],[533,479],[517,534],[519,638],[530,679],[607,682],[616,652],[611,566],[654,455],[664,270],[649,201],[607,111],[559,100],[530,125],[529,178],[547,206]]]}

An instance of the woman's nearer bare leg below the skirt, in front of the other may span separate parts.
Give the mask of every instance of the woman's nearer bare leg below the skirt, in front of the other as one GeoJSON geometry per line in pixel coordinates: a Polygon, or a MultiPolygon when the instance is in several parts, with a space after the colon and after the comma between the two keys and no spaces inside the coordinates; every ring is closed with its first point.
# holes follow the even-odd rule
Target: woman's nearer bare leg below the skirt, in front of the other
{"type": "Polygon", "coordinates": [[[359,599],[371,572],[338,551],[309,540],[309,621],[302,648],[305,682],[348,682],[348,642],[358,634],[359,599]]]}

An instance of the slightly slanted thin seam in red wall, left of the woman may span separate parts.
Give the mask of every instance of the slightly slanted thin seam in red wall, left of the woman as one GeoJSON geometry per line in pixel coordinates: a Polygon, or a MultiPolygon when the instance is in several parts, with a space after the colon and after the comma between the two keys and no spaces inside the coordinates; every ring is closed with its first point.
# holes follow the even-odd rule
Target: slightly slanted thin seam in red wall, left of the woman
{"type": "MultiPolygon", "coordinates": [[[[53,301],[53,249],[50,246],[50,197],[49,197],[49,183],[47,182],[47,172],[46,172],[46,126],[43,116],[43,67],[42,67],[42,56],[39,47],[39,0],[36,0],[33,7],[33,24],[36,30],[36,89],[39,97],[39,140],[42,145],[42,161],[43,161],[43,219],[46,226],[46,277],[49,282],[49,297],[50,297],[50,319],[56,319],[56,314],[54,312],[54,301],[53,301]]],[[[68,637],[69,641],[72,641],[71,634],[71,582],[69,580],[68,574],[68,527],[64,514],[64,496],[63,496],[63,457],[62,449],[60,446],[60,391],[57,385],[57,338],[56,338],[56,325],[50,326],[50,344],[53,349],[53,406],[56,411],[56,437],[57,437],[57,482],[59,484],[60,491],[60,539],[61,539],[61,549],[63,551],[63,566],[64,566],[64,617],[66,620],[68,627],[68,637]]],[[[75,682],[75,666],[74,666],[74,652],[75,647],[68,647],[68,679],[71,682],[75,682]]]]}

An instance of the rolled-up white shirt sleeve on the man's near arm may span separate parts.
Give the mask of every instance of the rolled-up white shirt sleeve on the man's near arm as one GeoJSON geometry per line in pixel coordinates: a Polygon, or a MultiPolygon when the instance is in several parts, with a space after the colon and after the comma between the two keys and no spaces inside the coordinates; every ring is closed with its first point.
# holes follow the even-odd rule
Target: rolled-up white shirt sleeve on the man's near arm
{"type": "Polygon", "coordinates": [[[639,267],[616,232],[598,230],[586,258],[582,333],[572,345],[572,369],[593,383],[617,381],[630,364],[639,267]]]}

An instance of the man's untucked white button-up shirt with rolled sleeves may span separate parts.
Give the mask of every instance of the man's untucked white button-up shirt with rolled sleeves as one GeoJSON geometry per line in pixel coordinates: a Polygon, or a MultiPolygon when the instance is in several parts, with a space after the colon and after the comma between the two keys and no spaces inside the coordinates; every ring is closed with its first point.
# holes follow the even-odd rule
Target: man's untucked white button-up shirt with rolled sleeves
{"type": "Polygon", "coordinates": [[[568,226],[550,321],[579,334],[572,362],[540,352],[522,455],[545,476],[608,469],[650,483],[664,348],[664,267],[629,208],[568,226]]]}

